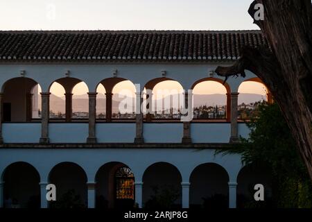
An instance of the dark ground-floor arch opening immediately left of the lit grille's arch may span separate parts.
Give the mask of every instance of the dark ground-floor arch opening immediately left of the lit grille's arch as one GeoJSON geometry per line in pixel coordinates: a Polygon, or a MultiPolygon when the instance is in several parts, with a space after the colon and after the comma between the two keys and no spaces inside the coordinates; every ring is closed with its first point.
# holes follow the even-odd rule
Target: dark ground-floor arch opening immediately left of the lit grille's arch
{"type": "Polygon", "coordinates": [[[87,174],[75,162],[60,162],[49,172],[49,182],[56,187],[57,200],[52,208],[87,207],[87,174]]]}

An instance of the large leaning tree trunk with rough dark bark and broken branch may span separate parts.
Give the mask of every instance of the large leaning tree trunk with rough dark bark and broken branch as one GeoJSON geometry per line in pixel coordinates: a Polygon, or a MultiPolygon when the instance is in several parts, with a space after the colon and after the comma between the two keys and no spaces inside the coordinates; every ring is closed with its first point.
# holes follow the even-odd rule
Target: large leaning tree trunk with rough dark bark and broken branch
{"type": "Polygon", "coordinates": [[[270,49],[244,46],[232,67],[218,67],[219,76],[250,70],[266,84],[293,134],[312,180],[312,10],[311,0],[255,0],[262,3],[264,20],[256,21],[270,49]]]}

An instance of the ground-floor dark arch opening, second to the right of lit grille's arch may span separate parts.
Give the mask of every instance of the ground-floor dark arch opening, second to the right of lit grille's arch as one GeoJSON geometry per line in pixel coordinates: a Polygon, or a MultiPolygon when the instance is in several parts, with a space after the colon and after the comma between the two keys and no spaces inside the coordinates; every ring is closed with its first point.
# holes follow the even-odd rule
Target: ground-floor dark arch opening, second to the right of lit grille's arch
{"type": "Polygon", "coordinates": [[[216,163],[204,163],[193,169],[189,178],[190,207],[227,208],[229,175],[216,163]]]}

